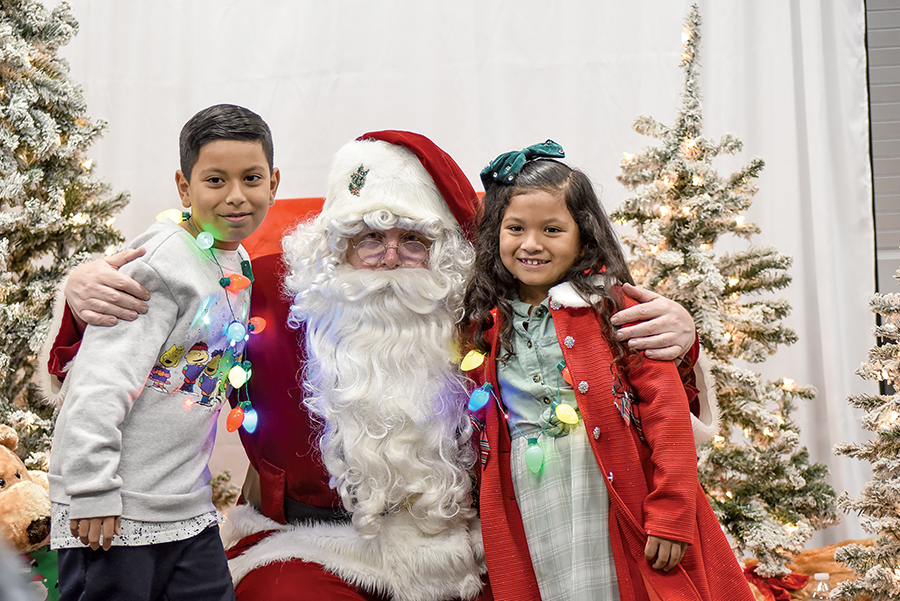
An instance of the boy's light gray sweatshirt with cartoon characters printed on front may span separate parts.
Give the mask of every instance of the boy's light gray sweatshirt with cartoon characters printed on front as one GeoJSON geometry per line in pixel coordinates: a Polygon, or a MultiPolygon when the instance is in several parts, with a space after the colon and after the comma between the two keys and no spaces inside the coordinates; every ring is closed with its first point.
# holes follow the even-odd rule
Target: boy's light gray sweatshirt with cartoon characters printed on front
{"type": "MultiPolygon", "coordinates": [[[[225,329],[247,324],[250,290],[235,294],[209,250],[180,226],[155,223],[122,272],[150,292],[148,310],[114,327],[88,326],[66,377],[50,456],[50,498],[71,519],[169,522],[214,510],[207,462],[223,390],[216,367],[241,358],[225,329]]],[[[224,275],[247,255],[214,251],[224,275]],[[240,258],[238,258],[240,257],[240,258]]]]}

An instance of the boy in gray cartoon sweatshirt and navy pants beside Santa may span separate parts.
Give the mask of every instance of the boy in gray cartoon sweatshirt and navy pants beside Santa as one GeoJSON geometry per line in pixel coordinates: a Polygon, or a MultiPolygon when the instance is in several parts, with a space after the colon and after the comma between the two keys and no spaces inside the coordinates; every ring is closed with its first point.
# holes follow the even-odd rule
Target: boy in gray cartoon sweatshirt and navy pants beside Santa
{"type": "Polygon", "coordinates": [[[66,378],[50,460],[63,601],[234,599],[207,467],[227,371],[192,384],[198,361],[243,358],[229,326],[246,327],[250,288],[223,284],[252,280],[240,242],[274,204],[280,174],[269,127],[238,106],[194,115],[180,151],[175,183],[191,217],[155,223],[131,245],[146,254],[123,268],[153,303],[136,321],[89,326],[66,378]]]}

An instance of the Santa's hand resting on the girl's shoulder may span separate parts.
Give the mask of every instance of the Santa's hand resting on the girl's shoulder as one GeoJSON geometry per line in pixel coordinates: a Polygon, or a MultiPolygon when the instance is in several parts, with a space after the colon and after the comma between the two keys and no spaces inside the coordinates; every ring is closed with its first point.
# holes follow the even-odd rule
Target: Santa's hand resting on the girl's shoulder
{"type": "Polygon", "coordinates": [[[623,284],[622,290],[641,304],[622,309],[610,318],[614,326],[622,326],[616,333],[619,340],[659,361],[678,359],[690,350],[696,335],[687,309],[638,286],[623,284]]]}

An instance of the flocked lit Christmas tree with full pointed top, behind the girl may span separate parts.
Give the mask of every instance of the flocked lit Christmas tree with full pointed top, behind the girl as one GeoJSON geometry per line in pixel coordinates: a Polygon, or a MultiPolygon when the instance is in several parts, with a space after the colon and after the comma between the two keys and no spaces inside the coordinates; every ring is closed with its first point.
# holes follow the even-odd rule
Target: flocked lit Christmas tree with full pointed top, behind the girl
{"type": "Polygon", "coordinates": [[[612,217],[634,227],[635,235],[623,241],[632,249],[635,279],[690,311],[709,358],[721,429],[700,451],[701,484],[735,552],[756,557],[761,576],[782,576],[790,572],[790,554],[837,519],[827,468],[810,464],[791,421],[795,400],[816,391],[787,378],[764,382],[737,363],[765,361],[779,345],[796,341],[782,322],[788,303],[758,298],[790,283],[791,259],[757,247],[717,255],[721,236],[749,240],[759,232],[742,213],[757,191],[753,180],[763,161],[754,158],[727,177],[713,168],[715,157],[734,154],[742,144],[730,134],[716,142],[701,132],[696,5],[682,41],[684,89],[675,125],[638,117],[634,129],[660,143],[624,155],[617,179],[635,194],[612,217]]]}

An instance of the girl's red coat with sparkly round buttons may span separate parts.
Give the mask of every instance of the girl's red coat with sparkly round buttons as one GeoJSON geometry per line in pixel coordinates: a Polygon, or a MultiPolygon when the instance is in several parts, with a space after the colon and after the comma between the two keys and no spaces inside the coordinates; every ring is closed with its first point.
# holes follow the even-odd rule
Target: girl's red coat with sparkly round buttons
{"type": "MultiPolygon", "coordinates": [[[[551,299],[554,299],[551,291],[551,299]]],[[[614,405],[612,353],[589,307],[551,302],[553,320],[599,469],[607,477],[609,529],[623,601],[751,601],[737,560],[697,480],[688,403],[674,365],[643,357],[628,380],[647,443],[614,405]],[[648,535],[689,543],[670,572],[644,558],[648,535]]],[[[497,389],[496,335],[484,376],[497,389]]],[[[510,438],[496,403],[487,406],[489,445],[482,468],[481,521],[494,596],[538,601],[522,518],[510,473],[510,438]]]]}

